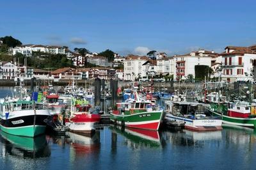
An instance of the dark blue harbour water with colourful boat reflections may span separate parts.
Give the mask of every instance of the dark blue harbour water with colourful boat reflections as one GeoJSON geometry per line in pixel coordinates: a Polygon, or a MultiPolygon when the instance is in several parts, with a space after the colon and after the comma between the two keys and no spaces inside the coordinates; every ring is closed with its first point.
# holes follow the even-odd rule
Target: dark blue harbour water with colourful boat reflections
{"type": "MultiPolygon", "coordinates": [[[[0,97],[12,95],[0,88],[0,97]]],[[[0,169],[255,169],[256,131],[148,132],[104,125],[87,137],[67,132],[0,135],[0,169]]]]}

